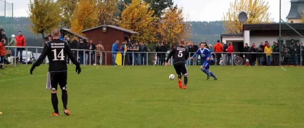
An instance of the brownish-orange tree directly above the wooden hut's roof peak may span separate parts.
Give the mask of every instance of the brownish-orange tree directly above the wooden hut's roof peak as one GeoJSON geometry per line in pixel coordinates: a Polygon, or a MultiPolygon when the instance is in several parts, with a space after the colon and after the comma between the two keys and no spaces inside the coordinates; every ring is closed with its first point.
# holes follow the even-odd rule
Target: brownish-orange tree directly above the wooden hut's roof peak
{"type": "Polygon", "coordinates": [[[112,21],[115,19],[115,13],[117,13],[118,10],[118,0],[98,0],[97,1],[97,8],[99,10],[98,12],[98,20],[99,25],[102,24],[113,24],[112,21]]]}

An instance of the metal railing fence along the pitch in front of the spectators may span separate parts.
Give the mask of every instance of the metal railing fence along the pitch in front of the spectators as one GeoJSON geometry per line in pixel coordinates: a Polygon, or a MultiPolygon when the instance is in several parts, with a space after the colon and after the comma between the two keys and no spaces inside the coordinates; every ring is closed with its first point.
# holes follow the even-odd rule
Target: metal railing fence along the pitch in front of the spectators
{"type": "MultiPolygon", "coordinates": [[[[16,67],[16,62],[20,55],[18,56],[17,48],[23,48],[25,51],[25,59],[24,64],[33,63],[40,55],[38,53],[38,49],[43,49],[43,47],[6,47],[12,50],[12,54],[17,55],[13,58],[13,64],[16,67]],[[28,51],[29,48],[35,49],[34,52],[28,51]],[[30,55],[28,55],[30,54],[30,55]]],[[[83,65],[107,65],[107,57],[111,56],[112,52],[100,52],[100,51],[92,51],[92,50],[74,50],[77,51],[75,56],[78,61],[83,65]],[[86,52],[89,52],[87,54],[86,52]],[[97,56],[96,54],[91,54],[91,52],[100,52],[102,56],[97,56]],[[110,55],[108,55],[110,54],[110,55]],[[86,57],[87,55],[87,57],[86,57]],[[86,64],[87,58],[87,64],[86,64]],[[101,61],[98,61],[101,60],[101,61]],[[103,61],[104,60],[104,61],[103,61]],[[103,63],[105,62],[105,63],[103,63]]],[[[24,52],[23,52],[24,53],[24,52]]],[[[303,52],[301,52],[303,53],[303,52]]],[[[211,57],[211,65],[302,65],[302,60],[304,55],[301,53],[243,53],[243,52],[234,52],[234,53],[213,53],[211,57]],[[269,60],[269,61],[268,61],[269,60]]],[[[117,52],[117,54],[121,54],[121,52],[117,52]]],[[[125,65],[164,65],[165,59],[167,59],[169,52],[166,53],[156,53],[156,52],[127,52],[125,55],[125,65]],[[158,54],[158,55],[157,55],[158,54]]],[[[195,53],[189,53],[189,58],[195,53]]],[[[24,56],[24,55],[23,55],[24,56]]],[[[123,58],[123,56],[122,56],[123,58]]],[[[173,64],[174,58],[171,57],[169,59],[169,65],[173,64]]],[[[22,60],[21,60],[22,61],[22,60]]],[[[118,62],[118,59],[116,59],[118,62]]],[[[123,65],[123,59],[121,61],[123,65]]],[[[48,58],[45,59],[45,64],[48,64],[48,58]]],[[[187,65],[202,65],[203,60],[200,55],[198,55],[193,60],[186,60],[187,65]]],[[[72,64],[69,61],[69,64],[72,64]]]]}

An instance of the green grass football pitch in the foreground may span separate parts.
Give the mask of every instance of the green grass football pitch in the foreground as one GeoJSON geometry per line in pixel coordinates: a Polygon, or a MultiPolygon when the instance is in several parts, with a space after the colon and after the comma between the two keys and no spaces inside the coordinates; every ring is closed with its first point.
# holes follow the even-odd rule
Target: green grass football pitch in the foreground
{"type": "Polygon", "coordinates": [[[302,67],[188,66],[183,90],[172,66],[69,66],[71,115],[52,117],[47,65],[30,66],[0,70],[0,127],[304,127],[302,67]]]}

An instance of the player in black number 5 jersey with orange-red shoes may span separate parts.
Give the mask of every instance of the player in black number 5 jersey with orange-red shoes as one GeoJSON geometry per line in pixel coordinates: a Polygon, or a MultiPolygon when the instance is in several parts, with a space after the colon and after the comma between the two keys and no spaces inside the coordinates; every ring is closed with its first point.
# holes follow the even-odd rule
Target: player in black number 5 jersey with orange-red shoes
{"type": "Polygon", "coordinates": [[[165,66],[168,65],[169,59],[174,55],[174,69],[178,75],[178,87],[182,88],[181,83],[181,76],[184,76],[184,86],[183,89],[186,89],[187,82],[188,82],[188,69],[187,65],[185,64],[185,60],[189,57],[189,50],[184,47],[185,42],[184,40],[179,41],[179,46],[172,49],[168,55],[168,58],[166,60],[165,66]]]}

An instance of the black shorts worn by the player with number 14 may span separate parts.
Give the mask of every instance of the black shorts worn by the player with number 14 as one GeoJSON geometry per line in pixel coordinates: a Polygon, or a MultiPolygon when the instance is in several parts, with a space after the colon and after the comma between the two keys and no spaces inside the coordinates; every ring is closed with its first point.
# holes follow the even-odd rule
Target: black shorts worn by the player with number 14
{"type": "Polygon", "coordinates": [[[61,90],[66,89],[67,71],[48,72],[47,89],[57,90],[58,84],[59,84],[61,90]]]}

